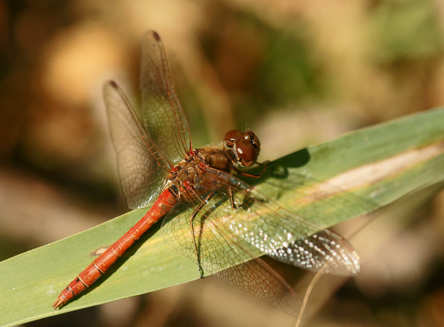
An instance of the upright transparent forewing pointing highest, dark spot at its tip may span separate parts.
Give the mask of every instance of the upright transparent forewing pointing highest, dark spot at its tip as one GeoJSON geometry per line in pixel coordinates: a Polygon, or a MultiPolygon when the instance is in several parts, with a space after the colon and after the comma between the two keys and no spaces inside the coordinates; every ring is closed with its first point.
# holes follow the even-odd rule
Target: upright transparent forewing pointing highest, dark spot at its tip
{"type": "Polygon", "coordinates": [[[143,37],[140,70],[145,130],[166,158],[177,162],[191,150],[190,130],[156,32],[147,32],[143,37]]]}

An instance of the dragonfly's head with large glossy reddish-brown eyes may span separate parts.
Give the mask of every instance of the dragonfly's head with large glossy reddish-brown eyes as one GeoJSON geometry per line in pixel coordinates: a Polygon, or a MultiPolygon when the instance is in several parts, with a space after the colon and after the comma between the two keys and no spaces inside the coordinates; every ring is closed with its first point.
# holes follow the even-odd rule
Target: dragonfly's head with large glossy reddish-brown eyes
{"type": "Polygon", "coordinates": [[[251,130],[229,130],[225,134],[225,145],[232,150],[244,167],[250,167],[258,160],[261,142],[251,130]]]}

